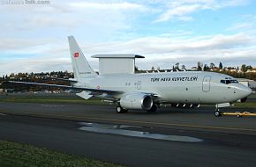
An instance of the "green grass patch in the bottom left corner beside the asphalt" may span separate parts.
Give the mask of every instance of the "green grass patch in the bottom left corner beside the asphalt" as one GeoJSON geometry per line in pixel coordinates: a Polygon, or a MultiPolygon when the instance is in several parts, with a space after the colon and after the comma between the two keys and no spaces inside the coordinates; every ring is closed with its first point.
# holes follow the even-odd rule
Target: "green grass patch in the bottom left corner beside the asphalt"
{"type": "Polygon", "coordinates": [[[39,149],[31,145],[0,141],[0,166],[117,167],[120,165],[103,163],[81,156],[66,155],[49,149],[39,149]]]}

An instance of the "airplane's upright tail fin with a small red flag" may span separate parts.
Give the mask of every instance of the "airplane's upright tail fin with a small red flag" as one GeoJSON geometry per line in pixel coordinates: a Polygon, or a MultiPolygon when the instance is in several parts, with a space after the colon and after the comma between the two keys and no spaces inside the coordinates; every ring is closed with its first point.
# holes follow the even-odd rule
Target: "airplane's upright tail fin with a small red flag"
{"type": "Polygon", "coordinates": [[[72,68],[75,78],[84,78],[90,76],[97,76],[94,69],[92,69],[87,62],[86,57],[82,53],[78,42],[73,36],[68,36],[70,51],[72,56],[72,68]]]}

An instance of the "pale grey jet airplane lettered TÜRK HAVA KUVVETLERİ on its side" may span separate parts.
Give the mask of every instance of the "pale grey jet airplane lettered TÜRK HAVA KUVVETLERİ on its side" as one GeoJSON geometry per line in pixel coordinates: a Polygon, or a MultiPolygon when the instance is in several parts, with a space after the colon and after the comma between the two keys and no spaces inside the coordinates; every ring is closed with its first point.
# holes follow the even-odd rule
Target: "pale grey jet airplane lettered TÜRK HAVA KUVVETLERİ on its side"
{"type": "MultiPolygon", "coordinates": [[[[74,72],[74,78],[69,79],[71,86],[15,81],[11,81],[11,83],[80,91],[77,95],[81,98],[97,97],[117,104],[117,113],[127,113],[131,109],[154,113],[161,105],[168,104],[183,106],[207,104],[215,105],[215,116],[220,116],[220,108],[230,106],[237,100],[244,102],[252,93],[250,88],[239,84],[234,77],[215,72],[177,71],[118,74],[118,71],[113,70],[113,74],[97,74],[90,67],[74,37],[69,36],[68,41],[74,72]]],[[[121,58],[143,57],[137,54],[119,54],[118,56],[121,58]]],[[[98,57],[108,59],[115,55],[105,54],[98,57]]]]}

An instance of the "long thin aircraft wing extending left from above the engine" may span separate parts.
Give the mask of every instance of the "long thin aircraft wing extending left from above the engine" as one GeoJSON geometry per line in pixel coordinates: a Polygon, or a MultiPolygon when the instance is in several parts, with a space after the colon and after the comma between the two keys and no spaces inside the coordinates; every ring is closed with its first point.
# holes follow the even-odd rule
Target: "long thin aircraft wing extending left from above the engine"
{"type": "Polygon", "coordinates": [[[76,91],[91,91],[91,92],[94,92],[96,94],[106,93],[106,94],[109,94],[109,95],[114,95],[114,94],[123,93],[123,91],[110,91],[110,90],[100,90],[100,89],[93,89],[93,88],[82,88],[82,87],[67,86],[67,85],[61,85],[61,84],[41,84],[41,83],[19,82],[19,81],[9,81],[9,83],[40,85],[40,86],[63,88],[63,89],[66,89],[66,90],[76,90],[76,91]]]}

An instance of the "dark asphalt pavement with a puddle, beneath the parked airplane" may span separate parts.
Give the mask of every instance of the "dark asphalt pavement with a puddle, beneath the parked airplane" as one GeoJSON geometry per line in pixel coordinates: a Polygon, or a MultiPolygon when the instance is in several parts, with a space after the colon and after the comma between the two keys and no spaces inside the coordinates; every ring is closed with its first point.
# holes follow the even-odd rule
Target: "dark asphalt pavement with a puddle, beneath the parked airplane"
{"type": "Polygon", "coordinates": [[[0,102],[0,139],[127,166],[254,166],[256,118],[213,113],[0,102]]]}

